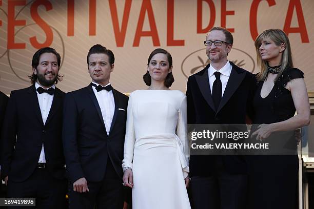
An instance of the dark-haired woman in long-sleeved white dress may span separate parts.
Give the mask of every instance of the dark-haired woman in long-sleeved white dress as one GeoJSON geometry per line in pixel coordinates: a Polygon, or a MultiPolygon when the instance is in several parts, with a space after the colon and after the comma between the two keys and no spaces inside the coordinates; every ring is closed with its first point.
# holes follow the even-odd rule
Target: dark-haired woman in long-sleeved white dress
{"type": "Polygon", "coordinates": [[[169,90],[171,71],[171,55],[155,49],[144,75],[149,88],[129,97],[122,167],[134,209],[191,208],[186,96],[169,90]]]}

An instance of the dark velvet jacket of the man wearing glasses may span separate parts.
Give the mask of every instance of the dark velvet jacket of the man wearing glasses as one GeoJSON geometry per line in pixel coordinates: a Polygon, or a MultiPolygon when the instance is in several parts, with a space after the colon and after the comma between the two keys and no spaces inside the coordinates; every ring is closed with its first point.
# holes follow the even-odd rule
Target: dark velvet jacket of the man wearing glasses
{"type": "MultiPolygon", "coordinates": [[[[191,75],[187,82],[188,124],[245,124],[246,116],[252,117],[252,100],[256,89],[256,78],[250,72],[235,66],[215,111],[209,87],[208,69],[191,75]]],[[[214,155],[191,155],[190,175],[210,176],[214,170],[214,155]]],[[[246,174],[246,162],[243,156],[222,156],[224,168],[232,174],[246,174]]]]}

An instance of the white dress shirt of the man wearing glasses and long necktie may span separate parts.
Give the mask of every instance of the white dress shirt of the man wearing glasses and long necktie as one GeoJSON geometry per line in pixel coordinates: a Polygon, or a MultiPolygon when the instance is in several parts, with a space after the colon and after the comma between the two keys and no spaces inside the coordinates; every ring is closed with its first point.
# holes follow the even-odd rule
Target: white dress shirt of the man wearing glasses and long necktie
{"type": "Polygon", "coordinates": [[[208,78],[209,78],[209,86],[210,86],[210,92],[212,94],[212,85],[215,81],[216,77],[214,75],[215,72],[220,72],[220,80],[222,83],[222,94],[221,97],[223,97],[227,82],[231,73],[232,66],[230,65],[230,62],[227,61],[226,65],[222,67],[220,70],[215,70],[211,65],[208,68],[208,78]]]}

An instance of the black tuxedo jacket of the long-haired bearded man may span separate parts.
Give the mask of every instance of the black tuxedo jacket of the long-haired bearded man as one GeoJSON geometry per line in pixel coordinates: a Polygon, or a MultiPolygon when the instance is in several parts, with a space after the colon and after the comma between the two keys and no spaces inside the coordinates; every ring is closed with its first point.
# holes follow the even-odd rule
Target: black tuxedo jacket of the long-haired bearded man
{"type": "Polygon", "coordinates": [[[12,91],[2,131],[2,177],[26,180],[36,169],[44,143],[46,168],[56,179],[65,178],[62,146],[62,106],[65,93],[55,88],[44,125],[35,86],[12,91]],[[15,146],[15,147],[14,147],[15,146]]]}

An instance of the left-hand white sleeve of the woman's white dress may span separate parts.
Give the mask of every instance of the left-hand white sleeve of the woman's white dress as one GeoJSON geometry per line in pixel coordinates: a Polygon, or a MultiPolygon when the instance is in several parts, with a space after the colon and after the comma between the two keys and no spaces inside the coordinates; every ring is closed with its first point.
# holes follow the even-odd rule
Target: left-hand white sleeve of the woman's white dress
{"type": "Polygon", "coordinates": [[[132,168],[133,152],[135,143],[135,131],[134,131],[134,120],[133,120],[133,98],[132,94],[129,97],[126,132],[124,140],[124,159],[122,161],[122,168],[132,168]]]}

